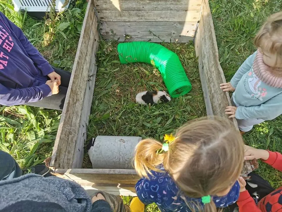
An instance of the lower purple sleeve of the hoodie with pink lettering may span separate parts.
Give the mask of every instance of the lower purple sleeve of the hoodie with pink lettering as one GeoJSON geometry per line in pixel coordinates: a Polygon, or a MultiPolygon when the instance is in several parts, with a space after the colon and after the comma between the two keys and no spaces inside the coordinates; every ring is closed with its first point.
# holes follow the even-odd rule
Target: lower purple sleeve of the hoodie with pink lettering
{"type": "Polygon", "coordinates": [[[8,88],[0,84],[0,105],[12,106],[38,102],[51,95],[51,88],[46,84],[21,89],[8,88]]]}

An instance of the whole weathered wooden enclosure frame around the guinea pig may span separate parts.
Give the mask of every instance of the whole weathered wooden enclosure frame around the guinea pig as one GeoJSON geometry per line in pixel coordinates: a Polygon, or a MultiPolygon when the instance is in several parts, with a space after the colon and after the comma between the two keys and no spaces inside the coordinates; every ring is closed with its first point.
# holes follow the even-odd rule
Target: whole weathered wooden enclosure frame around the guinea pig
{"type": "MultiPolygon", "coordinates": [[[[86,190],[135,195],[135,170],[81,169],[95,86],[99,39],[189,42],[194,40],[207,115],[227,117],[229,94],[208,0],[89,0],[50,166],[54,175],[86,190]],[[100,38],[102,37],[102,38],[100,38]]],[[[234,119],[234,124],[237,125],[234,119]]]]}

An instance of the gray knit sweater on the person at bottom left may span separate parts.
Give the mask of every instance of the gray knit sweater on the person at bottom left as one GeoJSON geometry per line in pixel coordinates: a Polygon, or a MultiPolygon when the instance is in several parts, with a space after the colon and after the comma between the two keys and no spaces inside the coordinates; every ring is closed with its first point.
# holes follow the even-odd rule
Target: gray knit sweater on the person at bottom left
{"type": "Polygon", "coordinates": [[[0,211],[20,201],[56,203],[68,212],[92,210],[90,197],[77,183],[35,174],[0,181],[0,211]]]}

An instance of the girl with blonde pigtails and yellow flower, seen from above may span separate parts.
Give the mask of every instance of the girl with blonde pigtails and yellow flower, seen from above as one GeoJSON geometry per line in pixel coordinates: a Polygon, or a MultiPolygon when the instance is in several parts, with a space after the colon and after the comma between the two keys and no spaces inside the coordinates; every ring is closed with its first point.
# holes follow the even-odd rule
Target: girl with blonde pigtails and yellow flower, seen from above
{"type": "Polygon", "coordinates": [[[156,203],[160,211],[214,212],[237,201],[244,142],[229,120],[197,119],[164,140],[136,146],[134,165],[142,179],[135,190],[143,203],[156,203]]]}

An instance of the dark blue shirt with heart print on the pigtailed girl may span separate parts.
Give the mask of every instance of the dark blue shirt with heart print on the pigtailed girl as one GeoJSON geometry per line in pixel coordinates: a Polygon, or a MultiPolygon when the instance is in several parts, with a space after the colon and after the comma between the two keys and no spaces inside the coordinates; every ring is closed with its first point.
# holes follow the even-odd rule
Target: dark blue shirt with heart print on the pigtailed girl
{"type": "MultiPolygon", "coordinates": [[[[152,174],[150,179],[142,178],[135,185],[137,196],[143,203],[156,203],[162,212],[191,212],[184,199],[188,203],[203,205],[201,198],[184,196],[167,172],[152,171],[152,174]]],[[[238,200],[239,193],[240,186],[236,181],[226,196],[213,196],[213,201],[216,207],[225,208],[238,200]]]]}

